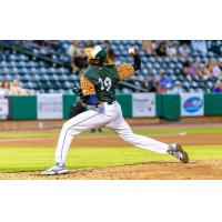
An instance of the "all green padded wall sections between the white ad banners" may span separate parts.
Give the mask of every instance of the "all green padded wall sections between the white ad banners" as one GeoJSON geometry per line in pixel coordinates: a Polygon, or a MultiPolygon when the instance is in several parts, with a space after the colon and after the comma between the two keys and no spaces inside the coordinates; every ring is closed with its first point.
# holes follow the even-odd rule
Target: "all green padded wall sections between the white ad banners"
{"type": "MultiPolygon", "coordinates": [[[[117,101],[122,107],[124,117],[132,117],[132,95],[117,94],[117,101]]],[[[70,118],[70,108],[77,101],[75,95],[63,95],[63,118],[70,118]]],[[[37,97],[36,95],[11,95],[9,97],[9,110],[11,120],[36,120],[37,97]]],[[[157,94],[157,115],[168,120],[180,120],[180,95],[157,94]]],[[[204,115],[222,115],[222,94],[204,94],[204,115]]]]}

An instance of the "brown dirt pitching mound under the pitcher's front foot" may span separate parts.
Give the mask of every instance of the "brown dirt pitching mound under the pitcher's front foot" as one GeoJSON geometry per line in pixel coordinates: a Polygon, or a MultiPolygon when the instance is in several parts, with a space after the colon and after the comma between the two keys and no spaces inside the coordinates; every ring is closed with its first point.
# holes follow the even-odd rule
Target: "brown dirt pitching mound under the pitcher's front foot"
{"type": "Polygon", "coordinates": [[[149,162],[71,171],[46,176],[40,172],[1,173],[6,180],[221,180],[222,161],[149,162]]]}

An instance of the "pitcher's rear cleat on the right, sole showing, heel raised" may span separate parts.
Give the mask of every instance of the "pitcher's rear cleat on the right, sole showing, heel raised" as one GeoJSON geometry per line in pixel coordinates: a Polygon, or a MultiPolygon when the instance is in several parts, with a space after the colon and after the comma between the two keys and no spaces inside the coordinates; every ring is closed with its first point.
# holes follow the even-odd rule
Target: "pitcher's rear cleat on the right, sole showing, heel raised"
{"type": "Polygon", "coordinates": [[[178,143],[172,143],[169,145],[168,153],[178,158],[182,163],[189,162],[188,153],[178,143]]]}

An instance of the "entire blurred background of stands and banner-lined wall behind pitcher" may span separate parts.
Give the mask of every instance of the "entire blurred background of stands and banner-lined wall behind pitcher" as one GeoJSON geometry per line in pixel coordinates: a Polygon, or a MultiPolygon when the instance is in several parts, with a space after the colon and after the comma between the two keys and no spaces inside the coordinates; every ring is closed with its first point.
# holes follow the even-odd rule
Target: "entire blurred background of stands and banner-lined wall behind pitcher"
{"type": "MultiPolygon", "coordinates": [[[[8,99],[0,100],[1,119],[70,118],[71,107],[78,102],[71,95],[71,90],[79,85],[79,79],[87,68],[84,48],[94,44],[107,48],[108,63],[130,62],[130,47],[137,47],[141,56],[142,69],[133,78],[120,82],[117,89],[117,99],[124,117],[179,120],[185,115],[181,111],[182,102],[186,105],[186,115],[222,115],[222,98],[219,95],[222,92],[222,41],[1,40],[0,97],[8,99]],[[155,109],[154,113],[145,114],[138,110],[141,113],[134,114],[137,111],[133,109],[139,104],[137,100],[144,99],[141,95],[133,98],[133,94],[140,92],[155,92],[155,99],[150,98],[150,104],[147,101],[151,112],[155,109]],[[44,104],[46,108],[38,108],[40,104],[37,98],[46,93],[62,94],[63,98],[58,101],[62,103],[60,108],[49,102],[44,104]],[[181,93],[191,94],[182,101],[181,93]],[[38,109],[48,109],[48,118],[39,117],[38,109]],[[62,109],[62,113],[52,117],[51,113],[62,109]]],[[[59,99],[48,97],[42,99],[42,103],[46,100],[59,99]]]]}

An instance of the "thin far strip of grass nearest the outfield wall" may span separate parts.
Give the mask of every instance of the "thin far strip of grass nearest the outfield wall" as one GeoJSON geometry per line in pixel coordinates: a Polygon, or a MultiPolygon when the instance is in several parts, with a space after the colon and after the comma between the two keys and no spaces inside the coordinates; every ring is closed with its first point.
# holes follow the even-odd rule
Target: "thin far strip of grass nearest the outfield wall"
{"type": "MultiPolygon", "coordinates": [[[[222,128],[170,128],[170,129],[135,129],[134,132],[143,135],[153,135],[153,134],[221,134],[222,128]]],[[[113,135],[114,133],[110,130],[105,130],[102,133],[95,132],[83,132],[82,135],[113,135]]],[[[54,138],[59,135],[59,131],[52,132],[2,132],[0,133],[1,138],[54,138]]]]}

